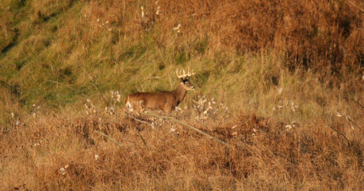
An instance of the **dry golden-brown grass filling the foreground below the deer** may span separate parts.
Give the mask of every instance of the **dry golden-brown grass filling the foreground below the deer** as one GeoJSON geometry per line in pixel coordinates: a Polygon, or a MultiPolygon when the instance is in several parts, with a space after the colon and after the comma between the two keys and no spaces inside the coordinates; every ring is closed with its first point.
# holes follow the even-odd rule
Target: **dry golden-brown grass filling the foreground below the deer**
{"type": "Polygon", "coordinates": [[[8,126],[0,135],[4,190],[360,190],[364,186],[363,134],[357,132],[348,146],[320,122],[287,131],[284,123],[256,115],[214,119],[204,125],[180,116],[227,143],[222,145],[177,124],[170,133],[170,122],[153,130],[123,115],[25,118],[26,126],[8,126]],[[66,165],[62,175],[60,168],[66,165]]]}

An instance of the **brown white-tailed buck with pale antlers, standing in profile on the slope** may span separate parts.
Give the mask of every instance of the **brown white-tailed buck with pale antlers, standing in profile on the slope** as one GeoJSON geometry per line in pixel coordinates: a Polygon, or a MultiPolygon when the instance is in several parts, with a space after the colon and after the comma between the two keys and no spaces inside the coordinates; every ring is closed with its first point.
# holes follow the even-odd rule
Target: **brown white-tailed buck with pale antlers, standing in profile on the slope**
{"type": "Polygon", "coordinates": [[[181,82],[175,90],[132,93],[125,99],[126,108],[136,112],[146,109],[164,110],[169,113],[174,111],[175,107],[185,98],[187,91],[195,90],[195,86],[190,83],[190,76],[194,75],[194,73],[190,73],[190,69],[187,73],[184,69],[179,72],[177,69],[176,73],[181,82]]]}

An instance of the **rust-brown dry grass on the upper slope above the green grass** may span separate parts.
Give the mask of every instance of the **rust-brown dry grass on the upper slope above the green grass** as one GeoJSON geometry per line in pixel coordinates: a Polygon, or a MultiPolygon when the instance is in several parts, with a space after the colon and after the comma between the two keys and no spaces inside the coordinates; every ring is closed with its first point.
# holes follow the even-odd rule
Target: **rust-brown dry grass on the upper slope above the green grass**
{"type": "Polygon", "coordinates": [[[286,57],[291,68],[329,65],[333,68],[328,72],[340,72],[343,65],[357,69],[363,62],[362,4],[350,2],[160,0],[156,5],[154,0],[92,1],[84,12],[91,16],[93,31],[99,31],[99,18],[99,23],[114,23],[112,28],[124,34],[120,37],[132,42],[147,30],[158,45],[176,44],[193,52],[194,39],[206,36],[207,51],[213,54],[274,51],[286,57]],[[155,15],[157,6],[163,11],[160,15],[155,15]],[[145,22],[149,22],[147,27],[145,22]],[[182,24],[180,35],[172,29],[178,23],[182,24]]]}

